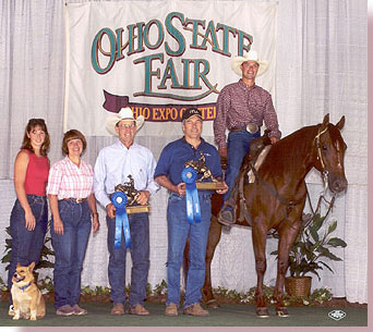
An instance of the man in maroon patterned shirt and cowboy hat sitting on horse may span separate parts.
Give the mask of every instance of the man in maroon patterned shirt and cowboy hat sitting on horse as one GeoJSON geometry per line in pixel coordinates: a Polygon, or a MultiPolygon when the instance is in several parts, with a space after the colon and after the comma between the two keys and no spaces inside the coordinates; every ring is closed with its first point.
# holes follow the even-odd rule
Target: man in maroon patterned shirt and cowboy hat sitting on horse
{"type": "MultiPolygon", "coordinates": [[[[214,135],[220,157],[227,158],[226,182],[229,189],[224,196],[225,202],[229,198],[251,140],[261,136],[263,122],[269,130],[272,144],[281,137],[272,97],[255,84],[255,77],[262,75],[267,66],[268,63],[260,61],[254,50],[243,57],[233,58],[231,67],[241,79],[224,87],[217,100],[214,135]],[[229,131],[228,143],[226,130],[229,131]]],[[[234,223],[230,205],[224,205],[218,221],[226,225],[234,223]]]]}

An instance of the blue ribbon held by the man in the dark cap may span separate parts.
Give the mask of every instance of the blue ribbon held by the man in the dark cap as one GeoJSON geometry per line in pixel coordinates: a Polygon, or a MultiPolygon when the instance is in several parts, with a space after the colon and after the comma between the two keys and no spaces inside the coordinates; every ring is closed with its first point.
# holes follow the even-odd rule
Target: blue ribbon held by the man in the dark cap
{"type": "Polygon", "coordinates": [[[198,192],[195,185],[197,173],[192,168],[185,168],[181,172],[181,179],[186,186],[186,219],[189,223],[201,222],[201,208],[198,192]]]}

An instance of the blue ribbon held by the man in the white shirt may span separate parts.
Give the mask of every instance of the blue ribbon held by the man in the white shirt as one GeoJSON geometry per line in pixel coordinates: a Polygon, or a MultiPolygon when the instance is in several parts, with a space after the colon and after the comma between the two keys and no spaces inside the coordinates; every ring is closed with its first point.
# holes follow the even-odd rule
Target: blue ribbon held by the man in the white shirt
{"type": "Polygon", "coordinates": [[[127,201],[128,198],[122,192],[115,192],[111,195],[111,202],[116,207],[115,249],[120,248],[122,239],[122,229],[124,232],[125,248],[129,248],[131,245],[130,222],[125,210],[127,201]]]}

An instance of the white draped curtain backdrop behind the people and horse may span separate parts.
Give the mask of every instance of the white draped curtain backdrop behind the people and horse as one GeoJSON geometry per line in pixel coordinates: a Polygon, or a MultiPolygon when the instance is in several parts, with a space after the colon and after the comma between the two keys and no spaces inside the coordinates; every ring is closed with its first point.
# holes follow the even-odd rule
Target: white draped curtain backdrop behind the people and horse
{"type": "MultiPolygon", "coordinates": [[[[62,158],[63,2],[5,0],[0,7],[0,248],[4,245],[4,228],[9,225],[15,198],[13,162],[29,118],[46,119],[51,134],[50,160],[56,162],[62,158]]],[[[191,5],[198,3],[190,2],[191,5]]],[[[222,2],[216,1],[216,5],[219,3],[222,2]]],[[[313,287],[325,285],[335,296],[359,303],[368,302],[366,40],[364,0],[278,1],[274,103],[284,135],[321,122],[325,113],[330,113],[333,123],[344,114],[347,120],[342,135],[348,145],[345,163],[349,187],[338,198],[333,217],[338,220],[337,235],[348,246],[340,253],[344,262],[334,266],[335,273],[323,273],[321,283],[313,279],[313,287]]],[[[146,136],[139,137],[137,142],[147,146],[157,159],[161,148],[177,137],[146,136]]],[[[210,136],[205,138],[213,140],[210,136]]],[[[84,159],[94,164],[99,149],[113,138],[88,137],[87,140],[84,159]]],[[[308,182],[312,195],[317,196],[318,174],[310,174],[308,182]]],[[[152,199],[148,281],[153,286],[166,280],[166,199],[165,189],[152,199]]],[[[89,239],[83,285],[108,285],[103,209],[100,221],[99,233],[89,239]]],[[[268,251],[273,245],[269,244],[268,251]]],[[[233,228],[230,234],[224,234],[212,269],[214,287],[245,292],[254,286],[251,231],[233,228]]],[[[267,284],[274,282],[274,269],[275,265],[268,262],[267,284]]],[[[0,265],[0,276],[5,279],[4,265],[0,265]]]]}

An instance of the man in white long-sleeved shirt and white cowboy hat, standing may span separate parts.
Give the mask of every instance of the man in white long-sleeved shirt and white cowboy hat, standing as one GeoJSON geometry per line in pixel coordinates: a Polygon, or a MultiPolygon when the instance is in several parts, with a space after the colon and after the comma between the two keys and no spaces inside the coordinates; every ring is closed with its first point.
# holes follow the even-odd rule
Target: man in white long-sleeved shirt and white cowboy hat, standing
{"type": "MultiPolygon", "coordinates": [[[[111,315],[123,315],[125,304],[125,241],[121,234],[120,247],[115,248],[116,207],[110,195],[118,184],[134,180],[134,187],[140,195],[139,205],[146,205],[151,195],[159,189],[154,181],[156,161],[147,148],[134,143],[137,130],[143,125],[144,116],[134,119],[130,108],[123,108],[115,116],[107,119],[107,130],[118,135],[119,140],[101,149],[95,164],[94,190],[96,199],[106,208],[109,249],[110,298],[113,302],[111,315]]],[[[131,233],[131,291],[129,305],[131,315],[148,315],[144,307],[146,283],[149,269],[149,220],[147,212],[131,213],[129,217],[131,233]]]]}

